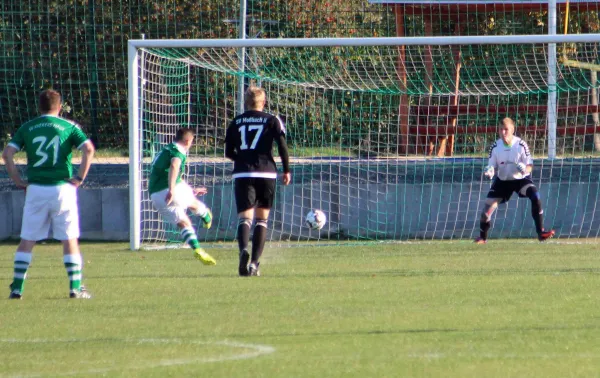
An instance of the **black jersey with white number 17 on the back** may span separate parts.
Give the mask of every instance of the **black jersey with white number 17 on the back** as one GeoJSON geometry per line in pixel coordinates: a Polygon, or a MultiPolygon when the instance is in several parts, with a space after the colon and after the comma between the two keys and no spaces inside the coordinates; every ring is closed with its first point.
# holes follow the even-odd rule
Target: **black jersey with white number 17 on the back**
{"type": "Polygon", "coordinates": [[[290,171],[283,121],[272,114],[250,110],[235,117],[227,128],[225,156],[233,160],[233,178],[277,178],[273,159],[277,143],[283,171],[290,171]]]}

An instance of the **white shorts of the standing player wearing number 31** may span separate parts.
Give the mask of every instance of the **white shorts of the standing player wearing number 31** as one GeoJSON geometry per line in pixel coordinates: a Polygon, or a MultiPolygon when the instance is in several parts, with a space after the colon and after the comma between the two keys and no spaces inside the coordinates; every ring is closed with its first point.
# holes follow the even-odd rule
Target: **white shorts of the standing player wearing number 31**
{"type": "Polygon", "coordinates": [[[21,239],[43,240],[50,237],[57,240],[79,237],[79,211],[77,209],[77,188],[71,184],[27,186],[21,239]]]}

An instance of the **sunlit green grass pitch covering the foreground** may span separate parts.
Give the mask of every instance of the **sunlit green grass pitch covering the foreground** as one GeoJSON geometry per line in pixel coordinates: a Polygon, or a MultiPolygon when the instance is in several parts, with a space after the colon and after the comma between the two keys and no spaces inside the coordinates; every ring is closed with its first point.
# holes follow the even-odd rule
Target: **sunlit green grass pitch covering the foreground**
{"type": "MultiPolygon", "coordinates": [[[[505,377],[600,371],[597,244],[491,240],[237,253],[83,244],[92,300],[69,300],[59,245],[0,299],[0,376],[505,377]]],[[[0,245],[0,283],[14,244],[0,245]]],[[[3,295],[4,295],[3,294],[3,295]]]]}

